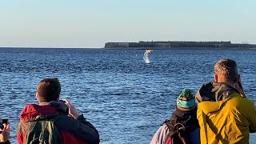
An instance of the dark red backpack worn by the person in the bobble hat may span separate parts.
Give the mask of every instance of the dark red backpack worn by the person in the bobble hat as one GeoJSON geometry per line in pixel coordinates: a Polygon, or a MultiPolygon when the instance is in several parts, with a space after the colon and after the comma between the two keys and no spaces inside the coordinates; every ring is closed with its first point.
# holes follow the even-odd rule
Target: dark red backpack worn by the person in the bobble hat
{"type": "Polygon", "coordinates": [[[166,123],[166,126],[169,129],[166,144],[190,143],[190,133],[186,130],[186,121],[175,122],[174,124],[174,122],[171,122],[171,120],[166,120],[164,123],[166,123]]]}

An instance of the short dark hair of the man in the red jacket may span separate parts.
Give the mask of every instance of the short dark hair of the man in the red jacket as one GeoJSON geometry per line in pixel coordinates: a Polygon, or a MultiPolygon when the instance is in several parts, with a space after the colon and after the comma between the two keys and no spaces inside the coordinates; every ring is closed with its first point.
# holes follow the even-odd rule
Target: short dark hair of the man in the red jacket
{"type": "Polygon", "coordinates": [[[38,83],[38,100],[40,102],[56,101],[61,93],[61,84],[58,78],[45,78],[38,83]]]}

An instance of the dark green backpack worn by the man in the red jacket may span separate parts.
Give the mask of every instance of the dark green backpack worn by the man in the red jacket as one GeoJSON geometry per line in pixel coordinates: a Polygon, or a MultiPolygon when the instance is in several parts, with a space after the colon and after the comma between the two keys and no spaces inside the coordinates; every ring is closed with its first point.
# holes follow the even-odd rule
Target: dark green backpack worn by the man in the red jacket
{"type": "Polygon", "coordinates": [[[24,143],[26,144],[58,144],[62,143],[62,138],[54,125],[61,114],[52,114],[47,116],[38,116],[29,123],[30,128],[26,131],[24,143]]]}

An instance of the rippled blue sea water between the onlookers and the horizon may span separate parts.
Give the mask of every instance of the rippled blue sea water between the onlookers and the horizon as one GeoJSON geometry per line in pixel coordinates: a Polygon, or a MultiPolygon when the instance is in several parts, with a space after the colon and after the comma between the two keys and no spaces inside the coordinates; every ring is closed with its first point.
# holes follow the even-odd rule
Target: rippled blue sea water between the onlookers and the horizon
{"type": "MultiPolygon", "coordinates": [[[[37,103],[42,78],[59,78],[67,98],[98,129],[101,143],[150,143],[170,118],[178,94],[213,80],[214,63],[233,58],[247,97],[256,101],[256,51],[0,49],[0,117],[11,122],[10,141],[22,108],[37,103]]],[[[256,142],[256,134],[250,135],[256,142]]]]}

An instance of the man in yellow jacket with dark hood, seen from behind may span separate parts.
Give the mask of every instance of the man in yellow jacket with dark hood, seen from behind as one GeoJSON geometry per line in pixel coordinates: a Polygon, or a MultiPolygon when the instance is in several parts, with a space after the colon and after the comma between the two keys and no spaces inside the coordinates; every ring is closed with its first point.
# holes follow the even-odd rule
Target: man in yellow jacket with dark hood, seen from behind
{"type": "Polygon", "coordinates": [[[196,94],[201,143],[249,143],[256,132],[256,110],[242,90],[236,62],[218,61],[214,79],[196,94]]]}

